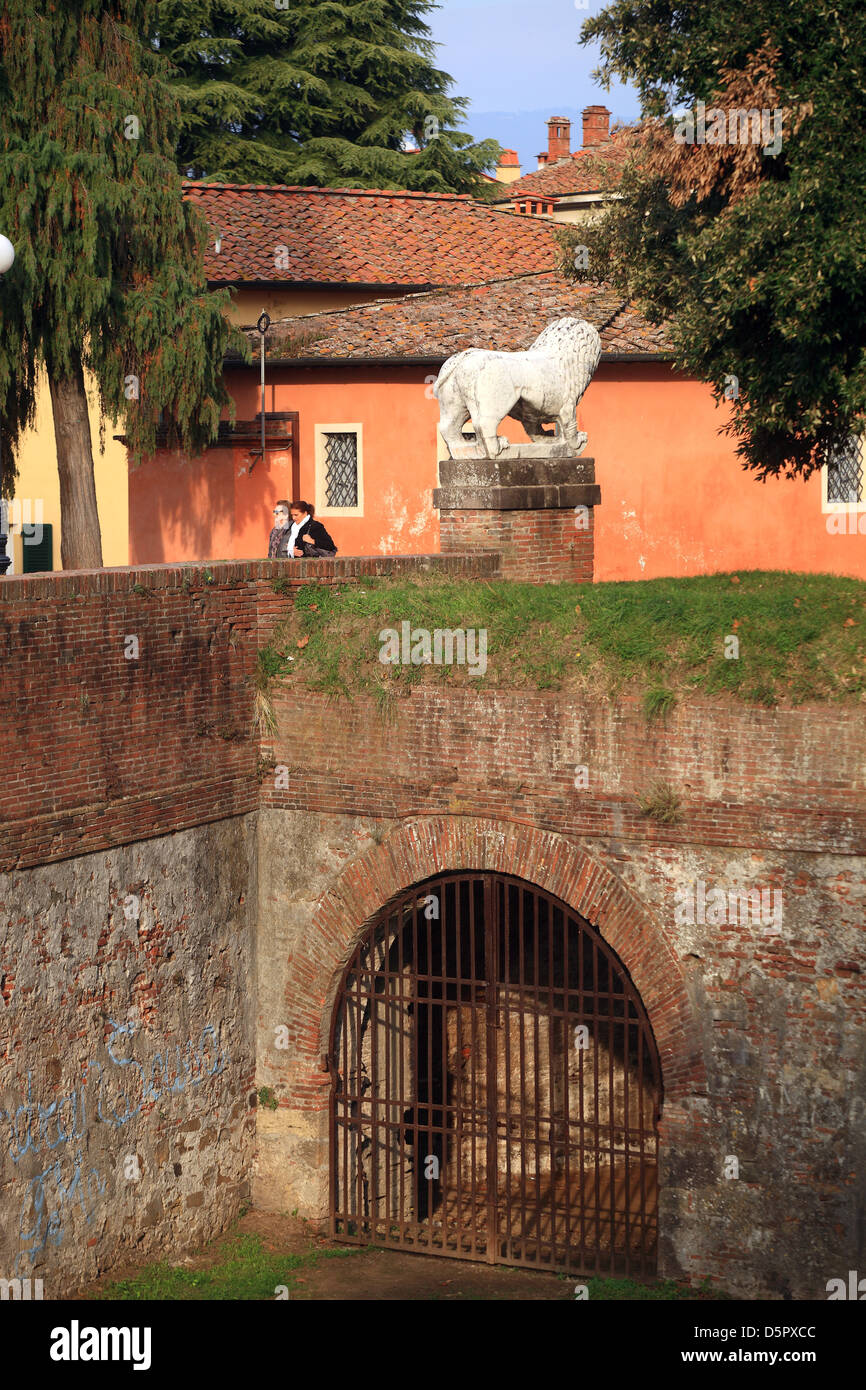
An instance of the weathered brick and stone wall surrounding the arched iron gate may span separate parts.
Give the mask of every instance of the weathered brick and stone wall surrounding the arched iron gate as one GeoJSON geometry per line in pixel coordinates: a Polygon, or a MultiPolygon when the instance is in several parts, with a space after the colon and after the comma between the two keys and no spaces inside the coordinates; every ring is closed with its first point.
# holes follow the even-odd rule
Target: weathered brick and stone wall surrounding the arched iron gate
{"type": "Polygon", "coordinates": [[[862,1266],[863,712],[689,702],[648,727],[630,699],[425,685],[388,721],[297,695],[278,720],[277,764],[303,739],[317,771],[263,783],[259,1069],[279,1109],[257,1201],[327,1211],[324,1054],[361,926],[431,874],[487,869],[580,912],[641,992],[664,1081],[660,1273],[826,1297],[862,1266]],[[659,776],[678,824],[637,806],[659,776]]]}

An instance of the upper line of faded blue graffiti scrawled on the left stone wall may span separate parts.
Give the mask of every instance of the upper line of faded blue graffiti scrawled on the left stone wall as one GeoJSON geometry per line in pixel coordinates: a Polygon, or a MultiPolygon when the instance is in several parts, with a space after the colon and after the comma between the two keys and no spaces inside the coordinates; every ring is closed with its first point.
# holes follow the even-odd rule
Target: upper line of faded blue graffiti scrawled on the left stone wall
{"type": "Polygon", "coordinates": [[[96,1116],[104,1125],[121,1129],[139,1115],[147,1102],[157,1101],[164,1093],[179,1094],[188,1086],[200,1086],[207,1077],[224,1072],[229,1062],[228,1055],[220,1049],[217,1030],[206,1023],[195,1051],[190,1038],[183,1044],[183,1049],[177,1042],[174,1049],[157,1052],[150,1061],[150,1076],[146,1079],[145,1066],[136,1058],[118,1055],[117,1051],[124,1040],[132,1040],[138,1023],[115,1023],[114,1019],[108,1022],[113,1031],[106,1049],[111,1065],[120,1073],[110,1072],[108,1076],[117,1084],[121,1080],[132,1083],[128,1084],[128,1094],[126,1088],[121,1088],[111,1097],[106,1069],[101,1062],[92,1061],[85,1065],[81,1086],[72,1087],[67,1095],[51,1101],[50,1105],[43,1105],[42,1101],[33,1102],[33,1079],[32,1072],[28,1072],[22,1104],[14,1113],[0,1109],[0,1120],[6,1119],[10,1123],[8,1154],[13,1162],[19,1163],[25,1154],[53,1151],[82,1138],[88,1130],[88,1094],[95,1098],[96,1116]],[[177,1055],[177,1065],[172,1065],[172,1052],[177,1055]],[[209,1062],[213,1065],[207,1066],[209,1062]]]}

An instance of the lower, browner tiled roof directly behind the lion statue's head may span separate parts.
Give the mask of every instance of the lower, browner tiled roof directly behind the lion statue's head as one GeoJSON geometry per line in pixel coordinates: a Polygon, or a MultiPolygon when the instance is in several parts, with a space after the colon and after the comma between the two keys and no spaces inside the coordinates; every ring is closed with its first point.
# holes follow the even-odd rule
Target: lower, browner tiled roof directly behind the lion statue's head
{"type": "MultiPolygon", "coordinates": [[[[281,361],[361,363],[445,360],[463,348],[517,352],[552,320],[570,314],[599,328],[603,352],[632,356],[670,350],[664,329],[651,327],[621,295],[606,286],[571,285],[557,271],[545,271],[281,318],[271,324],[265,354],[281,361]]],[[[249,339],[259,345],[259,334],[250,332],[249,339]]]]}

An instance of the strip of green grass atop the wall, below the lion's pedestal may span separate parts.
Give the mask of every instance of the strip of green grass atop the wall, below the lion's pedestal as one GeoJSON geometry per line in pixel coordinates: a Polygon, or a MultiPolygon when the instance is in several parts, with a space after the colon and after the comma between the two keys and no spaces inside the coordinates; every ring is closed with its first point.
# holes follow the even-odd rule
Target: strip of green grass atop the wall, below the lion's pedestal
{"type": "Polygon", "coordinates": [[[413,685],[637,692],[648,719],[689,694],[755,705],[866,702],[866,584],[745,571],[687,580],[531,585],[364,580],[307,585],[261,653],[274,680],[386,710],[413,685]],[[487,631],[487,671],[382,664],[379,631],[487,631]],[[726,651],[738,656],[726,656],[726,651]]]}

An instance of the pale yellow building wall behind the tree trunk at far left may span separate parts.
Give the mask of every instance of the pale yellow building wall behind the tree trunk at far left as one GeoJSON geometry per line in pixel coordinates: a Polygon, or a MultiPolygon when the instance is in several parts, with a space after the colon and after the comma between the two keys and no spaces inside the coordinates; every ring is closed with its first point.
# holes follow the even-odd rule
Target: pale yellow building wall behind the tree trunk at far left
{"type": "MultiPolygon", "coordinates": [[[[99,524],[103,535],[103,564],[129,564],[129,502],[126,450],[113,435],[117,427],[106,421],[106,452],[99,452],[99,409],[92,378],[86,378],[88,403],[90,407],[90,439],[93,442],[93,473],[96,477],[96,502],[99,524]]],[[[42,381],[36,400],[36,424],[21,438],[18,449],[18,478],[15,499],[19,514],[26,520],[42,520],[54,528],[54,569],[60,570],[60,480],[57,477],[57,450],[54,445],[54,418],[49,384],[42,381]],[[39,502],[42,500],[42,516],[39,502]],[[29,512],[28,512],[29,506],[29,512]]],[[[10,517],[13,520],[13,517],[10,517]]],[[[14,535],[7,546],[13,559],[13,570],[21,569],[21,537],[14,535]]]]}

